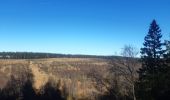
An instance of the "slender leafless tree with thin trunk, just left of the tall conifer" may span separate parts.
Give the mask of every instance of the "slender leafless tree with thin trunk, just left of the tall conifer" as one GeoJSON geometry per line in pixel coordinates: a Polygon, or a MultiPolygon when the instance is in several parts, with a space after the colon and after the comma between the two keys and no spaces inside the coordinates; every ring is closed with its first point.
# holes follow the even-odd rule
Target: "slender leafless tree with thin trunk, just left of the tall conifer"
{"type": "Polygon", "coordinates": [[[125,79],[130,83],[133,100],[136,100],[135,96],[135,82],[137,79],[137,68],[139,67],[137,55],[138,50],[132,45],[125,45],[122,49],[121,55],[124,60],[121,60],[119,68],[125,79]],[[123,62],[122,62],[123,61],[123,62]]]}

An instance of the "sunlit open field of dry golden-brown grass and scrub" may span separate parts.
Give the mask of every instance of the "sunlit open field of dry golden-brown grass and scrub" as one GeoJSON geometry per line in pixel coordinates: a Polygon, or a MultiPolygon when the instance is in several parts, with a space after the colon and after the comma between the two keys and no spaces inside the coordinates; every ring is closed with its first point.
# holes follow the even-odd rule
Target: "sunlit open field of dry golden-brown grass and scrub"
{"type": "Polygon", "coordinates": [[[20,77],[29,71],[33,74],[33,86],[37,91],[53,79],[60,84],[61,90],[67,91],[68,98],[94,99],[106,90],[101,87],[102,91],[98,91],[97,82],[89,74],[98,72],[107,77],[110,66],[109,59],[101,58],[0,60],[0,87],[5,86],[11,75],[20,77]]]}

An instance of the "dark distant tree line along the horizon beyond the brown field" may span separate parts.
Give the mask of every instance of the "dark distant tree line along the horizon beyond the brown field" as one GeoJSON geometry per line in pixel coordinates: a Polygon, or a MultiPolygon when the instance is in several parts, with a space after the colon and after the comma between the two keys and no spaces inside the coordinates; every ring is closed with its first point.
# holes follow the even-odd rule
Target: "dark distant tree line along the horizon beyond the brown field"
{"type": "Polygon", "coordinates": [[[113,56],[96,55],[71,55],[55,53],[36,53],[36,52],[0,52],[0,59],[41,59],[41,58],[105,58],[111,59],[113,56]]]}

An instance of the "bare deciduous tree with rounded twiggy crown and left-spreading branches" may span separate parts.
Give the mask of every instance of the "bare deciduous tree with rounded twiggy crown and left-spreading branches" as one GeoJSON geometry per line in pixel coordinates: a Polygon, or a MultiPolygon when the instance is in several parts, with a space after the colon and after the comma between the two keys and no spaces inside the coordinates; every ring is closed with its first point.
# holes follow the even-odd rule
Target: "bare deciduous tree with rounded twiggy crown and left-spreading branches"
{"type": "Polygon", "coordinates": [[[119,73],[119,76],[124,77],[124,85],[129,84],[128,88],[124,91],[130,91],[133,100],[136,100],[135,96],[135,82],[138,78],[137,69],[140,67],[138,62],[138,50],[132,45],[125,45],[122,48],[122,57],[117,57],[112,60],[111,67],[112,73],[119,73]]]}

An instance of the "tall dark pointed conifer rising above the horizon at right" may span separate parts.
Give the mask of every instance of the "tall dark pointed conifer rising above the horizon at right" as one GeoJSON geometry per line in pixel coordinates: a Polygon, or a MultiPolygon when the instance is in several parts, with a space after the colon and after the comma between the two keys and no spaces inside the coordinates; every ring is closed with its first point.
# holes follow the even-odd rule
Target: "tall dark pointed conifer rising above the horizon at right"
{"type": "Polygon", "coordinates": [[[159,75],[163,71],[162,59],[164,50],[161,43],[161,29],[155,20],[150,24],[149,32],[144,38],[144,47],[141,48],[142,68],[139,69],[137,83],[138,99],[156,100],[160,81],[159,75]]]}

